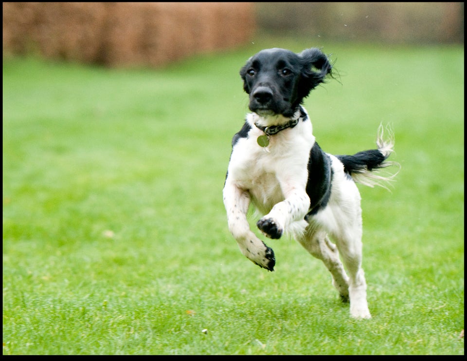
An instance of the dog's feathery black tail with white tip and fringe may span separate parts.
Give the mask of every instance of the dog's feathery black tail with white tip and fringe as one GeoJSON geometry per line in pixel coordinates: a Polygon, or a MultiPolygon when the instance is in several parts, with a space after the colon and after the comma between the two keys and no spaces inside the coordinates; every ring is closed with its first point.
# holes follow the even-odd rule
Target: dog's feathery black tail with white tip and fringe
{"type": "Polygon", "coordinates": [[[384,128],[382,125],[379,126],[376,140],[378,149],[358,152],[354,155],[336,155],[344,165],[344,171],[355,182],[369,187],[381,186],[388,189],[389,182],[394,181],[399,170],[386,175],[375,172],[389,166],[398,166],[400,169],[399,163],[386,160],[394,152],[394,135],[389,127],[387,131],[388,138],[384,139],[384,128]]]}

